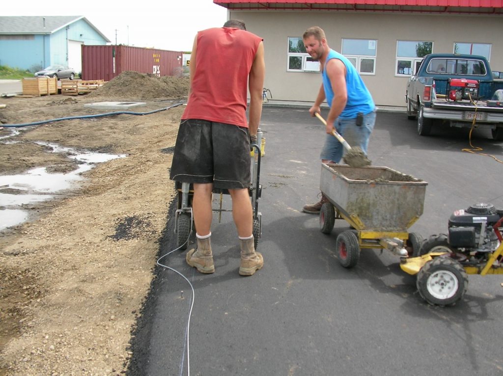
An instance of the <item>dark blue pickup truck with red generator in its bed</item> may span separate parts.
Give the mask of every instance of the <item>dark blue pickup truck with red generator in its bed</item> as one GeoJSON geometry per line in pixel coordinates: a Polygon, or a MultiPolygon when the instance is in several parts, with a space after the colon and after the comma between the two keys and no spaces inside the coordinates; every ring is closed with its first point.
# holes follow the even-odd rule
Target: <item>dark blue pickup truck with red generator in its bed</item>
{"type": "Polygon", "coordinates": [[[405,102],[421,136],[448,123],[490,128],[493,139],[503,141],[503,80],[494,79],[483,56],[426,55],[407,81],[405,102]]]}

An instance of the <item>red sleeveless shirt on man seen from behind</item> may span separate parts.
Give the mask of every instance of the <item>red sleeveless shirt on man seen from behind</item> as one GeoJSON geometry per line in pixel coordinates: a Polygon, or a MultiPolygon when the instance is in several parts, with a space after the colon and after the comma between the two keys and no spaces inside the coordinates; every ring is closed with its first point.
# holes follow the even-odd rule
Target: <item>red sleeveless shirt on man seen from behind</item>
{"type": "Polygon", "coordinates": [[[196,71],[182,119],[202,119],[248,128],[248,74],[262,38],[235,28],[197,34],[196,71]]]}

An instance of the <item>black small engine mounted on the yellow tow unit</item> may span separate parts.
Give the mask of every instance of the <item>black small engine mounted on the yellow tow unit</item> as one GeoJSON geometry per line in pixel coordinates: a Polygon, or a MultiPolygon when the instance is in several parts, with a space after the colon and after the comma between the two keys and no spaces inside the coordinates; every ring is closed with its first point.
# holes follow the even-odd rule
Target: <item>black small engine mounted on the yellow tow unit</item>
{"type": "Polygon", "coordinates": [[[469,252],[492,252],[499,245],[493,226],[503,216],[492,204],[475,204],[449,218],[449,245],[469,252]]]}

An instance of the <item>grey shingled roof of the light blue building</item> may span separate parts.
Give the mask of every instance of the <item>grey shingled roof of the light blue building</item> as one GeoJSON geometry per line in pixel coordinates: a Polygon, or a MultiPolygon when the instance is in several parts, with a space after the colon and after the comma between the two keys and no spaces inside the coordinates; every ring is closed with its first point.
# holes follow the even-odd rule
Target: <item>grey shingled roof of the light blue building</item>
{"type": "Polygon", "coordinates": [[[80,19],[86,21],[103,39],[110,42],[84,16],[10,16],[0,17],[0,34],[52,34],[80,19]]]}

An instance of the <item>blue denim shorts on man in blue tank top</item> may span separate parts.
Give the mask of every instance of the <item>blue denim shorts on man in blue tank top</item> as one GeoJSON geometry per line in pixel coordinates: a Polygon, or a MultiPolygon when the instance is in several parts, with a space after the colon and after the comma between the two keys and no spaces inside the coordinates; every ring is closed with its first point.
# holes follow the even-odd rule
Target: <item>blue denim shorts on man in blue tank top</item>
{"type": "MultiPolygon", "coordinates": [[[[374,129],[376,122],[375,110],[364,115],[363,124],[356,125],[356,118],[354,119],[341,119],[338,118],[334,122],[337,132],[344,137],[351,147],[359,146],[365,154],[367,154],[367,147],[369,146],[369,137],[374,129]]],[[[327,134],[325,143],[319,155],[322,160],[329,160],[339,163],[344,155],[344,146],[339,140],[331,134],[327,134]]]]}

